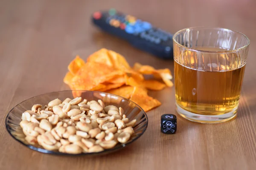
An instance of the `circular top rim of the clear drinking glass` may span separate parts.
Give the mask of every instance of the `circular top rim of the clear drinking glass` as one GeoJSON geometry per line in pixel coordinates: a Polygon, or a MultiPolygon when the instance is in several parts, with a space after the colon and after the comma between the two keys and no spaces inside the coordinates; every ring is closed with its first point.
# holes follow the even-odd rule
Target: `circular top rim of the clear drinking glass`
{"type": "Polygon", "coordinates": [[[244,35],[243,33],[239,32],[239,31],[233,31],[233,30],[230,30],[230,29],[227,29],[227,28],[221,28],[221,27],[205,27],[205,26],[200,26],[200,27],[188,27],[188,28],[183,28],[183,29],[177,31],[177,32],[173,35],[172,40],[173,40],[173,42],[174,42],[176,45],[178,45],[178,46],[180,46],[180,47],[182,47],[182,48],[185,48],[185,49],[188,50],[188,51],[205,52],[205,53],[218,53],[218,54],[226,54],[226,53],[233,53],[233,52],[241,51],[241,50],[247,48],[247,47],[250,45],[250,40],[249,40],[249,38],[248,38],[246,35],[244,35]],[[188,29],[194,29],[194,28],[219,29],[219,30],[225,30],[225,31],[236,32],[236,33],[238,33],[238,34],[241,34],[242,36],[244,36],[244,37],[247,39],[247,44],[244,45],[244,46],[242,46],[242,47],[240,47],[240,48],[236,48],[236,49],[234,49],[234,50],[225,50],[225,51],[205,51],[205,50],[196,50],[196,49],[194,49],[194,48],[186,47],[186,46],[180,44],[179,42],[177,42],[177,41],[175,40],[174,37],[175,37],[177,34],[179,34],[180,32],[185,31],[185,30],[188,30],[188,29]]]}

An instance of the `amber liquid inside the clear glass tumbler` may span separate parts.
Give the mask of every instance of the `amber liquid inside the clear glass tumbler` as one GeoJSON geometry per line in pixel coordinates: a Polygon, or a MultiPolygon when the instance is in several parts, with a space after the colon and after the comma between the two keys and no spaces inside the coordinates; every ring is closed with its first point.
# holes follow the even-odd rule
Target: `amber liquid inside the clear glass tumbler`
{"type": "MultiPolygon", "coordinates": [[[[223,51],[219,48],[200,50],[223,51]]],[[[210,56],[204,57],[207,59],[210,56]]],[[[233,57],[235,60],[236,56],[233,57]]],[[[211,60],[211,71],[188,68],[175,61],[176,103],[186,111],[202,115],[220,115],[236,110],[239,105],[245,65],[232,69],[232,65],[221,65],[219,59],[212,57],[211,60]]]]}

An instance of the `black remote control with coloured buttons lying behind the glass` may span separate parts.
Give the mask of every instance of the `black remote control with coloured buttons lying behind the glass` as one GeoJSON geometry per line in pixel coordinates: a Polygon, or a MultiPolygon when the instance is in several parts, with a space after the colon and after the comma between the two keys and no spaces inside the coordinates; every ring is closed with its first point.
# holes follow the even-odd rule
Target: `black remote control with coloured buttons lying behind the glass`
{"type": "Polygon", "coordinates": [[[93,23],[102,30],[127,40],[135,47],[162,59],[173,59],[172,34],[151,23],[115,9],[93,13],[93,23]]]}

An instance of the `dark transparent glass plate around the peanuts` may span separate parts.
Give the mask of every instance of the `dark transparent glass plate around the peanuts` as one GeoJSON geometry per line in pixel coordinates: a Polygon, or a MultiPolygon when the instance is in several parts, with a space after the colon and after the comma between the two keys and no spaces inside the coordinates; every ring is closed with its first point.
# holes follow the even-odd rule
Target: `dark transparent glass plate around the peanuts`
{"type": "Polygon", "coordinates": [[[46,150],[43,147],[35,147],[33,145],[30,145],[25,140],[25,135],[22,131],[22,128],[20,127],[20,121],[21,121],[21,115],[24,111],[31,110],[32,106],[34,104],[41,104],[41,105],[47,105],[49,101],[53,99],[61,99],[63,101],[67,97],[73,98],[73,92],[74,93],[81,93],[81,97],[83,99],[87,100],[98,100],[101,99],[105,105],[116,105],[118,107],[122,107],[125,111],[126,117],[129,119],[129,121],[136,119],[136,125],[134,128],[134,134],[131,136],[131,139],[124,143],[124,144],[116,144],[115,147],[112,149],[104,150],[99,153],[81,153],[76,154],[75,156],[81,156],[81,155],[102,155],[114,152],[116,150],[122,149],[123,147],[127,146],[128,144],[131,144],[136,139],[138,139],[143,133],[145,132],[147,126],[148,126],[148,117],[146,113],[143,111],[143,109],[132,102],[131,100],[125,99],[121,96],[117,96],[114,94],[108,94],[104,92],[99,91],[57,91],[47,94],[42,94],[39,96],[32,97],[30,99],[27,99],[20,104],[16,105],[12,110],[8,113],[6,117],[6,129],[9,132],[9,134],[18,142],[25,145],[26,147],[29,147],[32,150],[36,150],[38,152],[42,153],[49,153],[49,154],[55,154],[55,155],[74,155],[74,154],[68,154],[68,153],[61,153],[58,151],[51,151],[46,150]]]}

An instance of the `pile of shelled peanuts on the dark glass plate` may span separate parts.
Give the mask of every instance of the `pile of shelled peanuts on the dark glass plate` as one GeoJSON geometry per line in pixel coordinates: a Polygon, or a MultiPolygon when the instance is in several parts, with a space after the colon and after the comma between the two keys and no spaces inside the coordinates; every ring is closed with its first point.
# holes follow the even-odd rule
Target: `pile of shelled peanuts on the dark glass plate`
{"type": "Polygon", "coordinates": [[[125,143],[136,124],[135,119],[129,122],[122,108],[81,97],[33,105],[21,119],[26,142],[70,154],[101,152],[125,143]]]}

